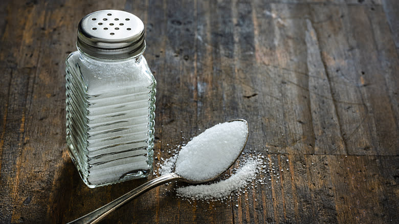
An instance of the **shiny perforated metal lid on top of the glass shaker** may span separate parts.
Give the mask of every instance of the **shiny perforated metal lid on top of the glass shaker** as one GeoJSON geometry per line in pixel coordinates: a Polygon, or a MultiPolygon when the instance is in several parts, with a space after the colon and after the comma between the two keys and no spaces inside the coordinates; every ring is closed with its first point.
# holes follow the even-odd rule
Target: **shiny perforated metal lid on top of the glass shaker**
{"type": "Polygon", "coordinates": [[[133,57],[145,50],[144,24],[139,17],[120,10],[93,12],[80,20],[76,44],[93,57],[133,57]]]}

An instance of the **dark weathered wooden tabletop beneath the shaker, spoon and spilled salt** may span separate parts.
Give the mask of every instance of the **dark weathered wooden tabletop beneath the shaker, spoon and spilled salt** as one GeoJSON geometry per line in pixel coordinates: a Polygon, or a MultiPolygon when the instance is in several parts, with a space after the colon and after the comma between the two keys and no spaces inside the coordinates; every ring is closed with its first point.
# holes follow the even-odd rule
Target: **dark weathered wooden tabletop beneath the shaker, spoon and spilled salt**
{"type": "Polygon", "coordinates": [[[154,178],[89,189],[66,149],[64,60],[108,8],[146,25],[158,158],[243,118],[245,151],[283,171],[223,203],[162,186],[102,223],[399,223],[396,0],[1,1],[1,223],[68,222],[154,178]]]}

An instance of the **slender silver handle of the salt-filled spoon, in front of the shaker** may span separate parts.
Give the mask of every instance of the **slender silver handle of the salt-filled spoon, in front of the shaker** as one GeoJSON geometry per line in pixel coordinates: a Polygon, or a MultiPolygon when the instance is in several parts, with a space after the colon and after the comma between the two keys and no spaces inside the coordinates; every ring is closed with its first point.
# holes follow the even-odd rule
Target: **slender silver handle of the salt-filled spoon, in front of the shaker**
{"type": "Polygon", "coordinates": [[[97,223],[100,221],[102,218],[104,218],[106,215],[114,211],[115,209],[119,208],[123,204],[125,204],[127,201],[139,196],[140,194],[157,187],[159,185],[165,184],[167,182],[171,182],[174,180],[177,180],[181,178],[180,176],[176,175],[175,173],[169,173],[157,178],[154,178],[153,180],[144,183],[140,185],[139,187],[127,192],[126,194],[118,197],[117,199],[111,201],[110,203],[104,205],[101,208],[98,208],[94,210],[91,213],[88,213],[87,215],[84,215],[78,219],[75,219],[68,224],[87,224],[87,223],[97,223]]]}

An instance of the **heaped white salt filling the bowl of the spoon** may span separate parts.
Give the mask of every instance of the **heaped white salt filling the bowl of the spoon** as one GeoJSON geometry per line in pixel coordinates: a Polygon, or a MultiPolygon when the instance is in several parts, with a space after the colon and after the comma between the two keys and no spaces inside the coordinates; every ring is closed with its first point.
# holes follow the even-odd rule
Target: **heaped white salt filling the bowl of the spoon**
{"type": "Polygon", "coordinates": [[[205,181],[224,172],[245,145],[245,121],[217,124],[194,137],[179,152],[175,173],[191,181],[205,181]]]}

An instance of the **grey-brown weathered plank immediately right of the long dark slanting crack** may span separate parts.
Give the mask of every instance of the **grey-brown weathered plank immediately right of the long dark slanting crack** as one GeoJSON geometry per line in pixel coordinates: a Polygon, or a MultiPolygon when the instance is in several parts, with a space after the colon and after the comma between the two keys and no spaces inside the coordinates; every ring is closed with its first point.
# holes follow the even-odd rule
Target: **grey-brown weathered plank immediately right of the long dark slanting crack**
{"type": "Polygon", "coordinates": [[[315,17],[319,17],[313,26],[329,77],[332,99],[336,102],[346,151],[348,154],[376,153],[372,145],[372,130],[368,126],[370,123],[364,122],[369,114],[361,93],[362,84],[359,84],[361,75],[355,69],[358,58],[353,56],[353,49],[356,47],[345,35],[348,32],[342,32],[352,29],[348,27],[352,23],[348,18],[348,9],[336,6],[328,10],[321,6],[312,7],[315,17]]]}

